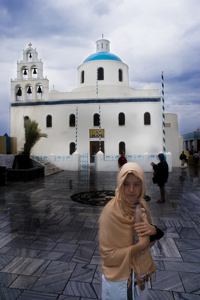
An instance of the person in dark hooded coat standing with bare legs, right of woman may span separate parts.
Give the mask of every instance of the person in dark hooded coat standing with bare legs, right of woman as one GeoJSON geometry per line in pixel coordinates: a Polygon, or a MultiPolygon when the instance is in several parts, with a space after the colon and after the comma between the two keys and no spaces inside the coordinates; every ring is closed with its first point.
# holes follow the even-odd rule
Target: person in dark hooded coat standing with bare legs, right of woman
{"type": "Polygon", "coordinates": [[[165,202],[165,190],[164,190],[164,185],[167,182],[169,173],[168,173],[168,164],[167,161],[165,160],[165,156],[163,153],[160,153],[158,155],[158,159],[160,163],[157,165],[154,164],[153,162],[151,163],[154,172],[156,172],[156,177],[158,178],[158,186],[160,187],[160,192],[161,192],[161,199],[158,199],[158,203],[164,203],[165,202]]]}

